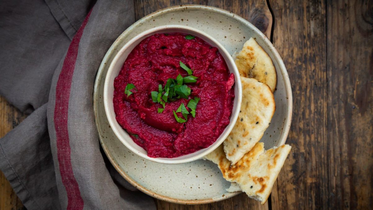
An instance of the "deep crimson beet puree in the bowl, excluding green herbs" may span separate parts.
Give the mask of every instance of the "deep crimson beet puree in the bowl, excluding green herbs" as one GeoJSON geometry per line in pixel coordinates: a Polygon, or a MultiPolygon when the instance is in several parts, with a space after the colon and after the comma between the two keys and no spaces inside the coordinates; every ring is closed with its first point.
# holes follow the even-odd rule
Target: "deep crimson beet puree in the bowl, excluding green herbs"
{"type": "MultiPolygon", "coordinates": [[[[210,146],[229,124],[233,107],[234,76],[216,47],[202,39],[187,40],[186,34],[154,34],[145,38],[128,55],[122,70],[114,80],[114,110],[116,120],[133,135],[132,139],[148,152],[149,157],[179,157],[210,146]],[[191,89],[188,99],[153,102],[152,91],[168,78],[188,73],[180,67],[182,61],[194,69],[196,83],[187,83],[191,89]],[[125,87],[132,83],[132,95],[125,94],[125,87]],[[178,123],[173,115],[183,102],[199,97],[195,118],[178,123]]],[[[191,109],[187,108],[190,112],[191,109]]],[[[177,113],[182,117],[181,113],[177,113]]]]}

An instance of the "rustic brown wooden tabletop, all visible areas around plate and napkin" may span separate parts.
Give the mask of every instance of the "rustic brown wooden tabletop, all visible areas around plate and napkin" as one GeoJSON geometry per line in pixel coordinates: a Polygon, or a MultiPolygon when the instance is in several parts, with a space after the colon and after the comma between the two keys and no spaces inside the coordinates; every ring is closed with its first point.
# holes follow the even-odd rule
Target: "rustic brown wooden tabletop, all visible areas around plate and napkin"
{"type": "MultiPolygon", "coordinates": [[[[179,4],[229,10],[269,36],[291,81],[292,151],[264,206],[240,194],[158,209],[372,209],[372,1],[135,0],[136,19],[179,4]]],[[[0,137],[25,117],[1,97],[0,137]]],[[[25,209],[2,173],[0,209],[25,209]]]]}

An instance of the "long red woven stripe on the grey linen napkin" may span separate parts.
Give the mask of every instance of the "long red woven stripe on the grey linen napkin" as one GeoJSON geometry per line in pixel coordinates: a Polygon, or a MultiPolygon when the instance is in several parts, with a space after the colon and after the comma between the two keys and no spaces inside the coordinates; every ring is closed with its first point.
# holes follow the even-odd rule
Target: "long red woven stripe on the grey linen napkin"
{"type": "Polygon", "coordinates": [[[76,56],[78,55],[79,41],[82,37],[84,27],[87,25],[90,14],[91,12],[88,13],[87,17],[85,17],[82,26],[79,28],[78,32],[75,34],[70,43],[56,86],[54,127],[56,129],[57,157],[60,166],[60,175],[68,196],[67,210],[81,210],[84,206],[84,201],[80,195],[78,182],[76,182],[71,166],[68,109],[71,80],[75,69],[76,56]]]}

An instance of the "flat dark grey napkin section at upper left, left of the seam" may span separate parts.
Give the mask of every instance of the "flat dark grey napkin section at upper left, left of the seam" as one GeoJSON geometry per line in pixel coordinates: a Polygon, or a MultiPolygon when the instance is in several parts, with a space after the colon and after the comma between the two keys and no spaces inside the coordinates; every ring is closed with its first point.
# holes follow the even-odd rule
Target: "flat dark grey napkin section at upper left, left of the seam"
{"type": "Polygon", "coordinates": [[[1,1],[0,95],[30,114],[48,102],[70,40],[42,0],[1,1]]]}

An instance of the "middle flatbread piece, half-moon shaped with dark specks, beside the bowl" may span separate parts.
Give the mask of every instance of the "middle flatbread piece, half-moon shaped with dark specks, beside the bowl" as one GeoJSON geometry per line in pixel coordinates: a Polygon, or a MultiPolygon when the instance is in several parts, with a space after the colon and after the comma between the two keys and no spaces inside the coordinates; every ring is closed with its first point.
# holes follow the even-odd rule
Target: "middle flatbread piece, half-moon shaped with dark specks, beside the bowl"
{"type": "Polygon", "coordinates": [[[253,78],[241,77],[241,111],[231,133],[224,141],[228,160],[235,164],[262,138],[276,110],[269,87],[253,78]]]}

